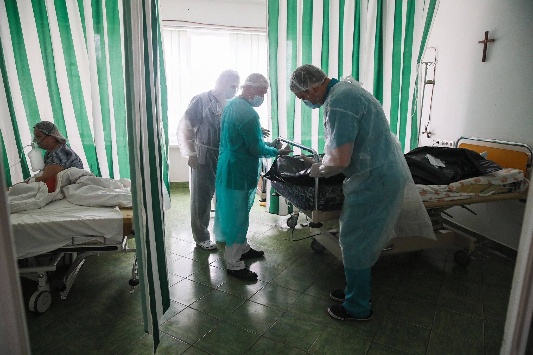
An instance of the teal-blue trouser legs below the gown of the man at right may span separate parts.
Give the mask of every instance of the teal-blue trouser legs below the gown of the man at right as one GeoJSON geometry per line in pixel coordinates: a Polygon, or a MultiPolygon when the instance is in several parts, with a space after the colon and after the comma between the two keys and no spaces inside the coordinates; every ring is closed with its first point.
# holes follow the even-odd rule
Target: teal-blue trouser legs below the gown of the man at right
{"type": "Polygon", "coordinates": [[[344,309],[352,316],[367,317],[370,314],[370,268],[354,270],[344,267],[346,289],[344,290],[344,309]]]}

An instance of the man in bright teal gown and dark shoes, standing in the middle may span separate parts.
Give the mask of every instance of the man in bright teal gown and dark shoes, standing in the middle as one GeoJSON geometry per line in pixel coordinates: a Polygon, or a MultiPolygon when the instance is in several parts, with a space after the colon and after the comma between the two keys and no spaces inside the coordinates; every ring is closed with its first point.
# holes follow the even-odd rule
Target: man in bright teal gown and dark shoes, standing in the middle
{"type": "MultiPolygon", "coordinates": [[[[257,274],[247,269],[243,259],[262,257],[264,252],[253,250],[246,242],[248,214],[252,208],[259,181],[260,158],[292,152],[277,149],[276,142],[263,141],[259,107],[269,83],[254,73],[246,78],[243,92],[231,100],[222,113],[219,166],[216,170],[215,237],[226,242],[225,259],[228,275],[254,280],[257,274]]],[[[281,145],[278,145],[281,148],[281,145]]]]}

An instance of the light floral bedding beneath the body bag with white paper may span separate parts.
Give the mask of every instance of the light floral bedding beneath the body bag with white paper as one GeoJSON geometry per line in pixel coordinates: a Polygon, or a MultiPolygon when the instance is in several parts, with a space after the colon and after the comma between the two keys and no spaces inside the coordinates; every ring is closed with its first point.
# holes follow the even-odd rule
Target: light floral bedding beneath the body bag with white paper
{"type": "Polygon", "coordinates": [[[526,193],[529,181],[522,170],[502,169],[450,185],[416,185],[422,201],[444,202],[489,196],[497,193],[526,193]]]}

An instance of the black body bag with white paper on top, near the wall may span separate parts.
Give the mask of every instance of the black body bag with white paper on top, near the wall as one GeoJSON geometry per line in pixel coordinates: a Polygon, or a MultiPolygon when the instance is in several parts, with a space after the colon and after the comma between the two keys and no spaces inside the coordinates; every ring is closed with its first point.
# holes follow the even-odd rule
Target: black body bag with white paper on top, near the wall
{"type": "Polygon", "coordinates": [[[502,170],[494,161],[465,148],[418,147],[405,154],[405,160],[415,184],[422,185],[449,185],[502,170]],[[426,157],[427,154],[441,160],[445,166],[434,166],[426,157]]]}

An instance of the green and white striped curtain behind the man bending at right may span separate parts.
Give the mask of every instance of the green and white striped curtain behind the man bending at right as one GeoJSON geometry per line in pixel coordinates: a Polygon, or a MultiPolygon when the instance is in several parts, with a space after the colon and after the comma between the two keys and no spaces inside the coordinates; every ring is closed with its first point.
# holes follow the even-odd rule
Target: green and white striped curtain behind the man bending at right
{"type": "MultiPolygon", "coordinates": [[[[268,0],[272,135],[323,152],[322,109],[307,108],[288,88],[294,69],[313,64],[330,78],[351,75],[364,82],[403,150],[415,148],[418,63],[439,1],[268,0]]],[[[269,211],[286,210],[285,201],[271,200],[269,211]]]]}

